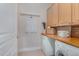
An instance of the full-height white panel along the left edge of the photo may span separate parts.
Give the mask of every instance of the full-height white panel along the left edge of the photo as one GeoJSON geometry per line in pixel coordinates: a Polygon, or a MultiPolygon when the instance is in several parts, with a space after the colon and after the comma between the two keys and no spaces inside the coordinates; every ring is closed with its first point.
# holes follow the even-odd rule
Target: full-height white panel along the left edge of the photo
{"type": "Polygon", "coordinates": [[[17,4],[0,4],[0,55],[17,54],[17,4]]]}

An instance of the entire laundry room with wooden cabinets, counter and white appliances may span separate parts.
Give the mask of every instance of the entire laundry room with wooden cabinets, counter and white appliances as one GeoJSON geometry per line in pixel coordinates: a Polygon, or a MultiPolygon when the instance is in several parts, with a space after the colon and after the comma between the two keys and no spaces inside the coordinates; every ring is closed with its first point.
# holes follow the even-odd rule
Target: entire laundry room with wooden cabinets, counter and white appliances
{"type": "Polygon", "coordinates": [[[79,3],[0,3],[0,56],[79,56],[79,3]]]}

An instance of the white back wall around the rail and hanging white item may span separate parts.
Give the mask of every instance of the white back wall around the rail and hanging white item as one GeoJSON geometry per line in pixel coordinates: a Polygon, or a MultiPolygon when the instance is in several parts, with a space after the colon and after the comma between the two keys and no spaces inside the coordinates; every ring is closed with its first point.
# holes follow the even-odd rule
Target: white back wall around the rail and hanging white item
{"type": "MultiPolygon", "coordinates": [[[[41,38],[38,39],[40,37],[40,32],[43,32],[43,27],[42,27],[42,22],[45,21],[46,22],[46,9],[48,8],[49,4],[18,4],[18,47],[19,50],[26,50],[26,49],[33,49],[33,48],[41,48],[41,38]],[[26,14],[34,14],[34,15],[40,15],[40,31],[38,36],[36,36],[36,34],[24,34],[23,33],[23,26],[22,24],[23,19],[20,16],[20,13],[26,13],[26,14]],[[32,41],[29,40],[31,38],[34,38],[32,41]],[[27,40],[28,39],[28,40],[27,40]],[[30,48],[29,48],[30,46],[30,48]]],[[[39,21],[38,21],[39,22],[39,21]]],[[[38,25],[38,24],[37,24],[38,25]]]]}

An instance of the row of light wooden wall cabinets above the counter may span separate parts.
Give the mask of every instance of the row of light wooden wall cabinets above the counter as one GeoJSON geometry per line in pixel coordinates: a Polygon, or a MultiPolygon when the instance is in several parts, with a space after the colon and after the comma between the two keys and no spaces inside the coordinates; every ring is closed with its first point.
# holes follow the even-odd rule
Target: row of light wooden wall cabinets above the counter
{"type": "Polygon", "coordinates": [[[79,3],[53,4],[47,12],[50,27],[79,25],[79,3]]]}

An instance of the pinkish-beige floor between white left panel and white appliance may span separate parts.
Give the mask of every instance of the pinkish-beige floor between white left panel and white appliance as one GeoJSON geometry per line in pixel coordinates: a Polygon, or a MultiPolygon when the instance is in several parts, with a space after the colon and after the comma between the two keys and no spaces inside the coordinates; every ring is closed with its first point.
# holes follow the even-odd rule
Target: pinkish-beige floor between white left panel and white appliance
{"type": "Polygon", "coordinates": [[[18,56],[45,56],[42,50],[19,52],[18,56]]]}

